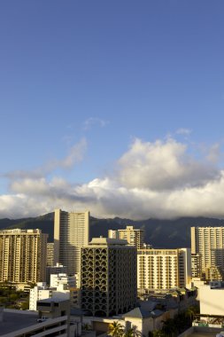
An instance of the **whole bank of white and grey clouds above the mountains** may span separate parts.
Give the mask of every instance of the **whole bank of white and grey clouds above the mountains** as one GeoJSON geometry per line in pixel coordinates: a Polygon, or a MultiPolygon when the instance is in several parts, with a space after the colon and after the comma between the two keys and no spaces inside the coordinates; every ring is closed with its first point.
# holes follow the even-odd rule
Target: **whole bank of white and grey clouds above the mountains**
{"type": "Polygon", "coordinates": [[[174,138],[152,143],[136,138],[110,176],[77,185],[53,175],[58,167],[73,169],[86,147],[82,140],[63,161],[48,163],[42,169],[45,176],[37,174],[38,170],[7,174],[10,190],[0,195],[0,217],[37,216],[54,208],[89,209],[93,216],[132,219],[224,217],[219,145],[195,157],[187,144],[174,138]]]}

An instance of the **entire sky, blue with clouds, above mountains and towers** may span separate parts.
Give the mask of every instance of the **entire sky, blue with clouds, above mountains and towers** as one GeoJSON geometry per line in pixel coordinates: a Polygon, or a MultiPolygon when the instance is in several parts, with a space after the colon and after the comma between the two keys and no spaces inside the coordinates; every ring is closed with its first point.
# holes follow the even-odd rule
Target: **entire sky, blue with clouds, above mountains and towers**
{"type": "Polygon", "coordinates": [[[0,217],[224,216],[223,1],[0,9],[0,217]]]}

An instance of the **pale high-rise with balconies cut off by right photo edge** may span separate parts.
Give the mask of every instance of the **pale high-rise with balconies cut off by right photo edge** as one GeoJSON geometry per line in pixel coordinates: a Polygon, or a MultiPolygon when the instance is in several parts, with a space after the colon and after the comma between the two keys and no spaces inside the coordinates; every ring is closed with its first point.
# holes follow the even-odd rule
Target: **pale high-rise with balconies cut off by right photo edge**
{"type": "Polygon", "coordinates": [[[224,271],[224,227],[191,227],[191,253],[201,255],[204,274],[211,267],[224,271]]]}

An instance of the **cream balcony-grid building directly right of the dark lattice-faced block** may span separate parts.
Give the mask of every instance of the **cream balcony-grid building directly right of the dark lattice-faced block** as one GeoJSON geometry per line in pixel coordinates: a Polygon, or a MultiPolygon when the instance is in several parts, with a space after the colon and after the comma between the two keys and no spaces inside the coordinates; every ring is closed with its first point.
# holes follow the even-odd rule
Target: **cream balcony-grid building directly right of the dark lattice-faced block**
{"type": "Polygon", "coordinates": [[[190,249],[139,249],[137,287],[171,289],[186,286],[191,278],[190,249]]]}

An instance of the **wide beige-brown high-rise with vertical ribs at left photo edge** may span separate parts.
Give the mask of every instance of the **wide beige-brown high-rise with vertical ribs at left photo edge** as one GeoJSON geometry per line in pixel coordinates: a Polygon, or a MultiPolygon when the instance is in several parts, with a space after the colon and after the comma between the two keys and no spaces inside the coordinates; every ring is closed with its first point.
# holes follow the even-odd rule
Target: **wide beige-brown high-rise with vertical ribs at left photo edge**
{"type": "Polygon", "coordinates": [[[47,238],[41,230],[0,231],[0,282],[45,281],[47,238]]]}

